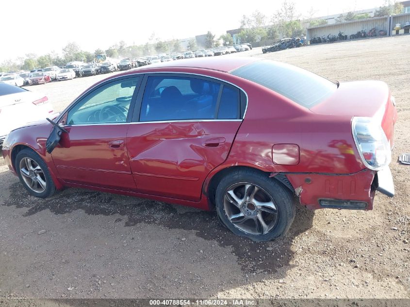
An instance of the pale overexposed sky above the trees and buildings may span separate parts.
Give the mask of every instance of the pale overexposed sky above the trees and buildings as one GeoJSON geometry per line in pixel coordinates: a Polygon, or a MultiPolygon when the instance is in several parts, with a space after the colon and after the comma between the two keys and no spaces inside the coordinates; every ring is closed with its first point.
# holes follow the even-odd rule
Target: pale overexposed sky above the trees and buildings
{"type": "MultiPolygon", "coordinates": [[[[243,15],[272,16],[283,0],[1,0],[0,63],[27,53],[62,53],[68,42],[82,50],[103,50],[124,40],[140,45],[155,39],[216,37],[237,29],[243,15]],[[8,14],[9,13],[9,14],[8,14]]],[[[289,1],[289,0],[288,0],[289,1]]],[[[384,0],[293,0],[301,17],[375,8],[384,0]]]]}

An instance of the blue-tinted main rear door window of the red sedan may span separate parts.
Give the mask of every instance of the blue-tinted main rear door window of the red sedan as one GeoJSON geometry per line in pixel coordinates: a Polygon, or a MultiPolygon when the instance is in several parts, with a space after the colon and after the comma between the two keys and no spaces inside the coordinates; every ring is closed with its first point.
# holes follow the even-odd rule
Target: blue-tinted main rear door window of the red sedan
{"type": "Polygon", "coordinates": [[[191,77],[148,77],[140,121],[215,119],[220,87],[191,77]]]}

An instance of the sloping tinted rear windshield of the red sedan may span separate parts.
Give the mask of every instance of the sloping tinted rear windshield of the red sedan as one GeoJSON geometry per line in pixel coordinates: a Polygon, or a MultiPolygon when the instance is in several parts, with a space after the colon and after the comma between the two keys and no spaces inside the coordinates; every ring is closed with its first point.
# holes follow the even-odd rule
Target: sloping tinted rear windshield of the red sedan
{"type": "Polygon", "coordinates": [[[269,60],[239,67],[231,74],[261,84],[306,108],[312,108],[337,89],[336,83],[308,70],[269,60]]]}

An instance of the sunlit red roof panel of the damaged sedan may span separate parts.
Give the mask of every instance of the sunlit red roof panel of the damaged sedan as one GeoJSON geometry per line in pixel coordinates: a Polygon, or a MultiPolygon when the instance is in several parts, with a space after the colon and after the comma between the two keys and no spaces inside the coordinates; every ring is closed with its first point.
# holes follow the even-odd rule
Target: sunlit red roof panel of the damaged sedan
{"type": "MultiPolygon", "coordinates": [[[[173,62],[163,62],[158,64],[151,64],[149,68],[154,67],[195,67],[211,70],[219,70],[223,72],[230,72],[236,68],[244,66],[246,64],[260,61],[259,58],[254,57],[206,57],[206,58],[193,58],[184,59],[183,61],[173,61],[173,62]]],[[[138,68],[137,68],[138,69],[138,68]]],[[[147,69],[146,67],[141,67],[141,69],[147,69]]]]}

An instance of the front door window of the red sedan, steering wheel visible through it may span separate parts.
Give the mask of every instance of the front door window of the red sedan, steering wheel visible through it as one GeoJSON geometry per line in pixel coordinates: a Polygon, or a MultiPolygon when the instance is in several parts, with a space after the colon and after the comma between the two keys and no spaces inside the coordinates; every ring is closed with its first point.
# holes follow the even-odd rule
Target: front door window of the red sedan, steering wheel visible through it
{"type": "Polygon", "coordinates": [[[139,77],[108,83],[77,103],[67,115],[67,125],[125,123],[139,77]]]}

